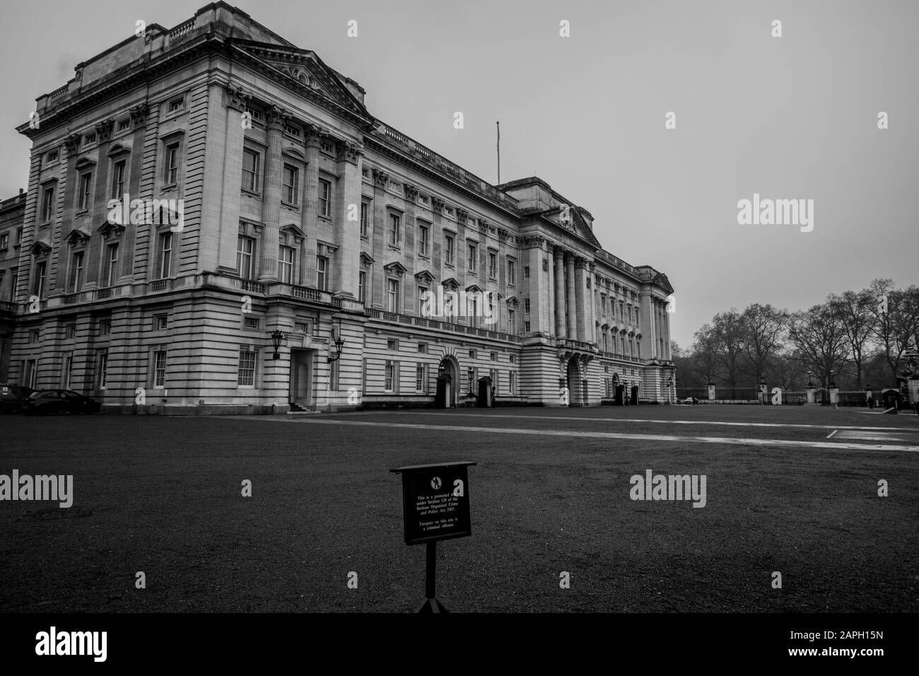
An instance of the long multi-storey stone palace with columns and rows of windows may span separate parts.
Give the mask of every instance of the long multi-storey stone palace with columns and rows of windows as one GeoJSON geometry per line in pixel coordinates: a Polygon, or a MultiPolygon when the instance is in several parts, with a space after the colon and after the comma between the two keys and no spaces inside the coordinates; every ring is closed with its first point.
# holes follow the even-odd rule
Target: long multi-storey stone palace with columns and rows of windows
{"type": "Polygon", "coordinates": [[[76,64],[17,127],[6,381],[113,413],[675,401],[664,273],[364,95],[222,2],[76,64]]]}

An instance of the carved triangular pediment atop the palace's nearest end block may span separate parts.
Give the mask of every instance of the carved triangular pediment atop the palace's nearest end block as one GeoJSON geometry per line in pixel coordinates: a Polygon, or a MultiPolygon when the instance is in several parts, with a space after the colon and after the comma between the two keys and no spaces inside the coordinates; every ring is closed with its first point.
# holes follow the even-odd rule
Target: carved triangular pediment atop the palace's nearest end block
{"type": "Polygon", "coordinates": [[[364,104],[315,52],[255,40],[233,40],[233,46],[261,63],[266,74],[271,74],[278,83],[299,90],[306,97],[324,97],[362,118],[371,119],[364,104]]]}

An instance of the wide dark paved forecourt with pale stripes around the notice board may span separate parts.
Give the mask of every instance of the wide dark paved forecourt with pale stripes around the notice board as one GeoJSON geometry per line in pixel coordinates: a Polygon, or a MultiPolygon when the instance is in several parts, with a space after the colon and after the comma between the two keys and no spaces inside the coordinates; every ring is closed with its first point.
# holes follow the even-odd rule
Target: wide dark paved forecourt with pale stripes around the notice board
{"type": "Polygon", "coordinates": [[[449,460],[478,463],[472,537],[438,545],[450,610],[919,611],[914,416],[642,406],[0,426],[0,474],[74,475],[70,510],[0,501],[0,611],[414,611],[424,548],[403,544],[388,470],[449,460]],[[631,500],[647,469],[706,475],[706,506],[631,500]]]}

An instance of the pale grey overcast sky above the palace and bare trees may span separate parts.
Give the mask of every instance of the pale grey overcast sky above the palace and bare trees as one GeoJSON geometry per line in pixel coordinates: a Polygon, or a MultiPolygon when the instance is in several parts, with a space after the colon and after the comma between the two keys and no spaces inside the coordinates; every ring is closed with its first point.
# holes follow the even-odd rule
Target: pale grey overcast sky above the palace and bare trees
{"type": "MultiPolygon", "coordinates": [[[[4,3],[0,196],[26,187],[29,143],[13,128],[36,97],[138,19],[168,29],[204,5],[4,3]]],[[[919,2],[235,5],[357,80],[380,120],[493,183],[501,120],[501,178],[543,178],[594,214],[607,250],[665,272],[684,347],[732,306],[919,282],[919,2]],[[812,231],[738,224],[754,193],[813,200],[812,231]]]]}

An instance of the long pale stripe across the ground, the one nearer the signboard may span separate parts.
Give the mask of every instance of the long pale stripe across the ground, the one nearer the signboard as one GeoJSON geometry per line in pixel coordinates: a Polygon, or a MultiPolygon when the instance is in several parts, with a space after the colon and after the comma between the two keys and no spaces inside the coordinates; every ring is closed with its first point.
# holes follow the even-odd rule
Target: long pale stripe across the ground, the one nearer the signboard
{"type": "MultiPolygon", "coordinates": [[[[254,417],[255,420],[274,421],[277,418],[254,417]]],[[[582,432],[573,430],[522,430],[516,428],[467,427],[462,425],[421,425],[409,422],[369,422],[367,420],[339,420],[317,418],[283,418],[281,422],[306,425],[352,425],[362,427],[403,428],[406,430],[448,430],[459,432],[484,432],[486,434],[535,434],[550,437],[579,437],[582,439],[624,439],[630,441],[694,441],[698,443],[733,443],[743,446],[799,446],[845,451],[903,451],[919,453],[919,446],[896,446],[875,443],[839,443],[836,441],[787,441],[777,439],[733,439],[731,437],[683,437],[672,434],[628,434],[626,432],[582,432]]]]}

